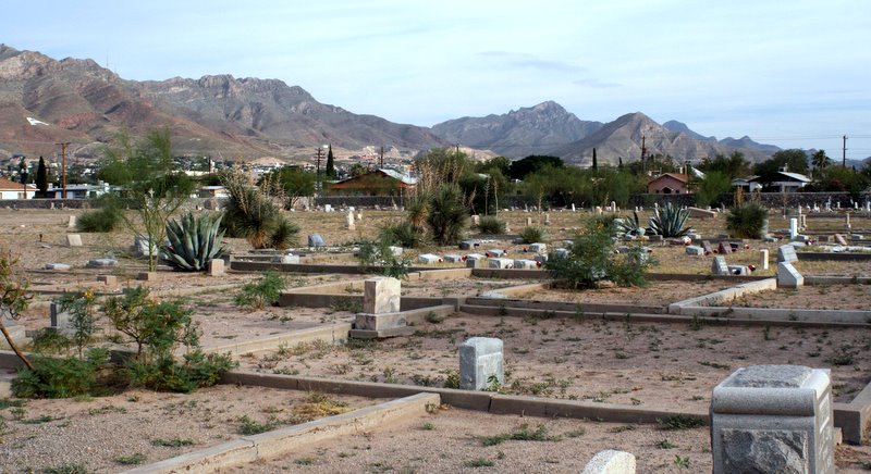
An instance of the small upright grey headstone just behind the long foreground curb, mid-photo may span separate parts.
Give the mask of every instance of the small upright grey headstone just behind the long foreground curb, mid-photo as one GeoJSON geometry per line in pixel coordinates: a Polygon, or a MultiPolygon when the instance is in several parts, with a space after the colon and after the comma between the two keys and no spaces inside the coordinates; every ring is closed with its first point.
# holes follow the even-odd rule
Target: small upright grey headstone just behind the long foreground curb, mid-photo
{"type": "Polygon", "coordinates": [[[471,337],[459,346],[459,388],[481,390],[491,382],[505,383],[502,339],[471,337]]]}

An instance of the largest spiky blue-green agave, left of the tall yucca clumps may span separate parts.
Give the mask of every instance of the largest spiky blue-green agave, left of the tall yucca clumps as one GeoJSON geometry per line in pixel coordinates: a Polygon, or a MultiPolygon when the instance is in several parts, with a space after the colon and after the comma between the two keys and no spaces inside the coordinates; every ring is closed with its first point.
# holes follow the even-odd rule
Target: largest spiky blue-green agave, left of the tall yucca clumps
{"type": "Polygon", "coordinates": [[[182,216],[181,222],[171,220],[167,223],[167,262],[186,272],[198,272],[206,270],[209,260],[217,259],[226,249],[221,246],[221,238],[224,233],[221,227],[222,214],[213,216],[203,215],[195,217],[187,213],[182,216]]]}

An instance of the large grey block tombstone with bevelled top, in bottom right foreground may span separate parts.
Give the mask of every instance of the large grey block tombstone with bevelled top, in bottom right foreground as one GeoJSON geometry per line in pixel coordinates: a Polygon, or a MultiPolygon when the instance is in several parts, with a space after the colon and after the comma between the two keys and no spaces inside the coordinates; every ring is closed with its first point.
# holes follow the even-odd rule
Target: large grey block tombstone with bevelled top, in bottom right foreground
{"type": "Polygon", "coordinates": [[[755,365],[713,390],[714,474],[832,474],[834,425],[829,370],[755,365]]]}

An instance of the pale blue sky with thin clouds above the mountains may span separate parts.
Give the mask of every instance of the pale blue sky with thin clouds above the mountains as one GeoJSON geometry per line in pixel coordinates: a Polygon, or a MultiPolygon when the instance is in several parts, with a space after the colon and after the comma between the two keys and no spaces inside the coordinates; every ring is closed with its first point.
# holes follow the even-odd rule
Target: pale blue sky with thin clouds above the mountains
{"type": "Polygon", "coordinates": [[[0,42],[121,77],[275,78],[432,126],[553,100],[704,136],[871,157],[866,0],[4,2],[0,42]]]}

